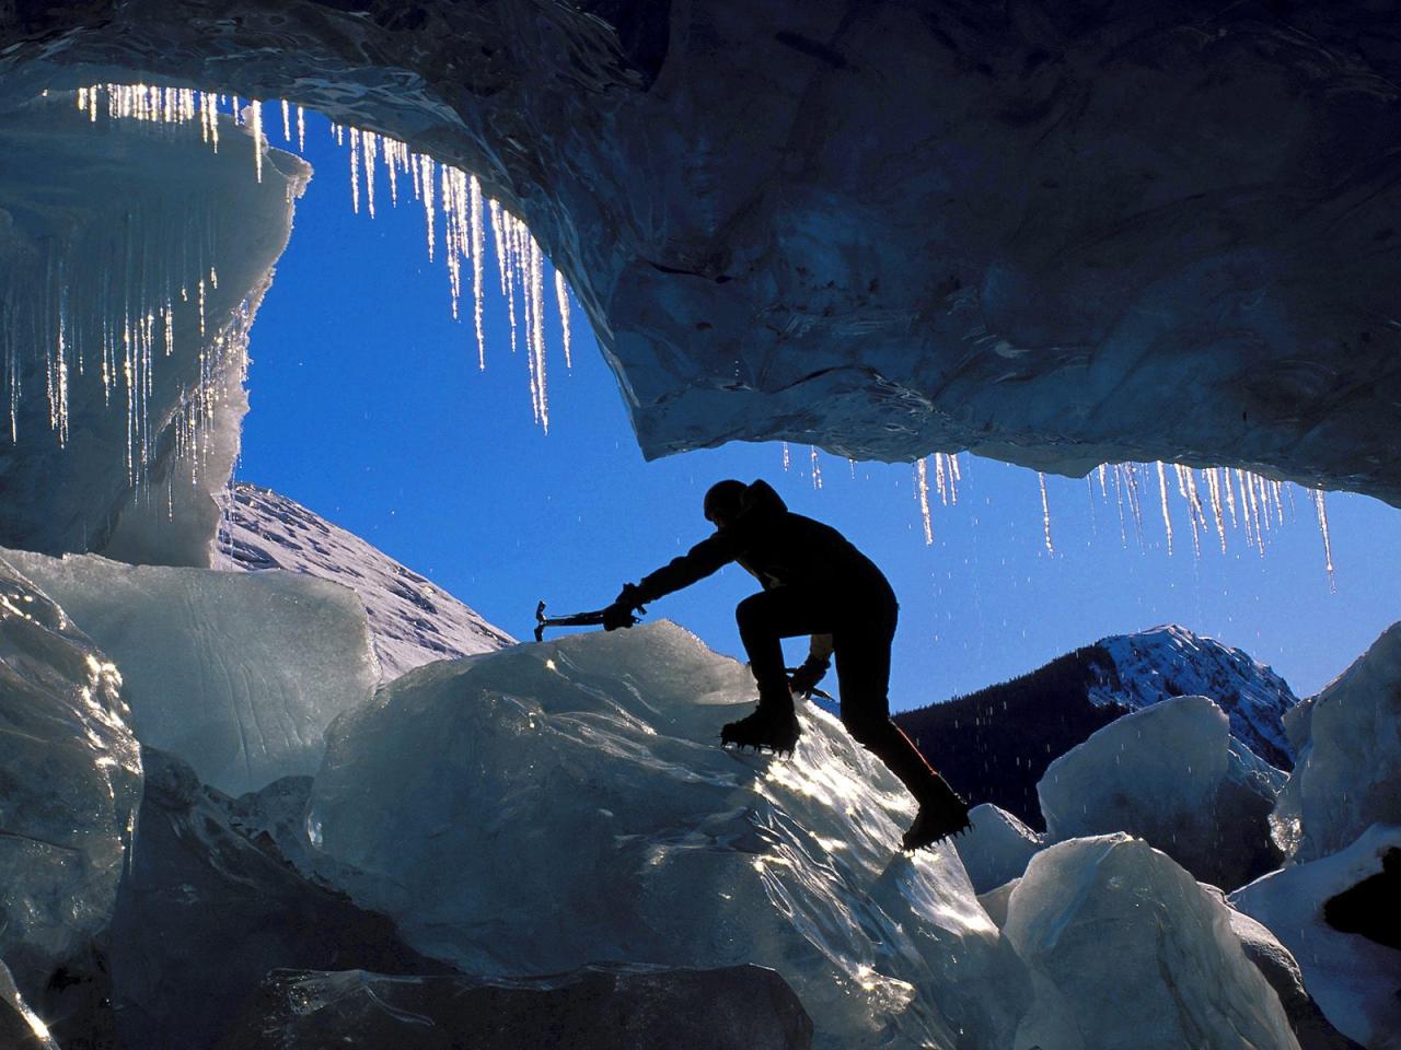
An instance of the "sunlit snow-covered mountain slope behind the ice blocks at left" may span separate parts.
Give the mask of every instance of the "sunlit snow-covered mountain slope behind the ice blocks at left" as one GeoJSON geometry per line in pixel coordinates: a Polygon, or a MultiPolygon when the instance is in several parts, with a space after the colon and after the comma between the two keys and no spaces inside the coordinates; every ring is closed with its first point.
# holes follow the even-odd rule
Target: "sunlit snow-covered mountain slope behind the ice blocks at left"
{"type": "Polygon", "coordinates": [[[223,503],[216,567],[287,568],[349,587],[370,615],[384,680],[516,643],[447,591],[272,489],[234,482],[223,503]]]}

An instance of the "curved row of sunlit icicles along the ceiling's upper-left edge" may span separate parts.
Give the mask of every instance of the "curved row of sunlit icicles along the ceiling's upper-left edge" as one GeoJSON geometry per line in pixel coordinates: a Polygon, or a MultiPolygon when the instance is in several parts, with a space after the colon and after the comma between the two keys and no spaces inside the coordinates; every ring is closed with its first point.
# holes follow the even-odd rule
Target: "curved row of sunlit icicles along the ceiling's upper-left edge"
{"type": "MultiPolygon", "coordinates": [[[[248,127],[254,137],[254,175],[262,182],[263,147],[268,134],[263,104],[193,88],[154,87],[147,84],[95,84],[77,91],[80,111],[97,120],[98,112],[112,119],[132,119],[167,125],[199,125],[200,136],[219,151],[219,118],[227,112],[235,125],[248,127]],[[105,102],[105,105],[104,105],[105,102]],[[247,102],[244,105],[242,102],[247,102]],[[224,109],[227,106],[227,111],[224,109]]],[[[279,101],[282,133],[286,143],[296,141],[305,151],[307,116],[303,106],[279,101]]],[[[478,178],[450,164],[439,164],[427,154],[415,153],[405,143],[359,127],[331,125],[336,143],[350,146],[350,203],[356,214],[361,202],[375,214],[377,185],[388,182],[389,204],[398,207],[403,183],[425,213],[427,253],[432,260],[439,245],[441,221],[443,252],[448,272],[448,293],[454,319],[460,316],[464,263],[471,263],[472,318],[476,328],[478,368],[486,368],[486,336],[482,326],[486,230],[490,228],[496,272],[502,297],[510,316],[511,353],[525,350],[530,372],[531,412],[535,421],[549,430],[549,395],[545,371],[546,283],[545,252],[525,223],[482,193],[478,178]],[[384,179],[377,181],[382,165],[384,179]],[[363,183],[363,195],[361,195],[363,183]],[[517,311],[520,302],[520,311],[517,311]]],[[[563,330],[565,367],[573,367],[570,339],[570,293],[565,276],[553,272],[553,305],[563,330]]]]}

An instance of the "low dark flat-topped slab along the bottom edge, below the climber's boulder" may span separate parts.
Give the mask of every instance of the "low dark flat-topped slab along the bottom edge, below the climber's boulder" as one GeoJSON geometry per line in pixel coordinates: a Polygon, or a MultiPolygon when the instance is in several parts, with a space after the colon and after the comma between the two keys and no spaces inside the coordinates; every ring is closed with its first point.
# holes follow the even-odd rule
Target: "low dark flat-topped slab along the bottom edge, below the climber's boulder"
{"type": "Polygon", "coordinates": [[[590,966],[556,977],[279,970],[219,1050],[808,1050],[813,1022],[773,970],[590,966]]]}

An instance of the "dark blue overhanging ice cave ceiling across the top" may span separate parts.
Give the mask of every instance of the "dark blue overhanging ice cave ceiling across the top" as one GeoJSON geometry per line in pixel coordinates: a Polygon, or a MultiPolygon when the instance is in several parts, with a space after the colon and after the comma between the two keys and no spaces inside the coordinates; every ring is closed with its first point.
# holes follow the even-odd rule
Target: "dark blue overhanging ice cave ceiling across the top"
{"type": "Polygon", "coordinates": [[[476,172],[647,455],[1230,465],[1401,504],[1390,4],[0,1],[0,98],[289,98],[476,172]]]}

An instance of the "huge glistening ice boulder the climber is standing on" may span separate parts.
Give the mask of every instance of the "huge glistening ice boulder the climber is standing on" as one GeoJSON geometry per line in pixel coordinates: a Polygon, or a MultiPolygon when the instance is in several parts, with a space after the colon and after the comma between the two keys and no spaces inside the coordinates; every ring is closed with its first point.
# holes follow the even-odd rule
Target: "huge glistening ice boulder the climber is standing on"
{"type": "Polygon", "coordinates": [[[908,794],[814,707],[790,762],[722,750],[752,696],[664,622],[430,664],[332,727],[310,826],[465,972],[755,962],[818,1046],[1006,1046],[1021,966],[954,848],[898,853],[908,794]]]}

